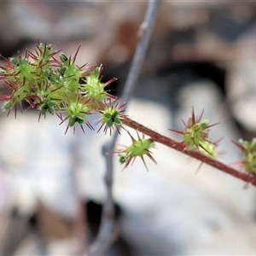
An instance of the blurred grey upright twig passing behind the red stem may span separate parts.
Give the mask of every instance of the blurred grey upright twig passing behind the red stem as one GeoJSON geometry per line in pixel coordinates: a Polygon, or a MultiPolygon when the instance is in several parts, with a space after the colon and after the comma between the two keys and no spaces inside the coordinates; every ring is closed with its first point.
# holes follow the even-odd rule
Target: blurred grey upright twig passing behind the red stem
{"type": "MultiPolygon", "coordinates": [[[[140,69],[143,64],[144,57],[146,55],[146,50],[148,49],[149,38],[153,30],[154,20],[157,15],[157,11],[160,6],[160,0],[154,0],[148,2],[148,9],[145,15],[143,24],[140,27],[140,40],[137,44],[137,49],[131,63],[131,69],[128,74],[125,83],[125,89],[123,91],[123,96],[120,98],[120,102],[127,102],[132,95],[135,88],[137,78],[140,73],[140,69]]],[[[107,197],[103,205],[102,212],[102,223],[96,241],[90,247],[90,255],[102,255],[108,249],[108,247],[113,243],[113,241],[118,236],[118,230],[114,223],[114,208],[113,208],[113,156],[108,154],[113,152],[114,145],[117,141],[118,132],[113,133],[112,140],[106,143],[102,148],[102,154],[106,159],[106,174],[105,183],[107,187],[107,197]]]]}

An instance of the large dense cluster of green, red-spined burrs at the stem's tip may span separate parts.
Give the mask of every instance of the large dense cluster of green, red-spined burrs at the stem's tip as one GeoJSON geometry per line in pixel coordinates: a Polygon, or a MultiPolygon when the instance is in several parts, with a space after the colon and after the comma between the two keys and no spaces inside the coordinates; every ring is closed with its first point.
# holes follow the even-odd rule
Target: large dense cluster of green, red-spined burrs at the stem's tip
{"type": "Polygon", "coordinates": [[[113,106],[112,99],[117,98],[105,90],[116,79],[102,83],[102,65],[78,67],[75,61],[79,49],[72,59],[55,48],[56,45],[38,42],[34,53],[26,50],[25,57],[5,59],[0,79],[9,86],[11,94],[0,96],[3,111],[9,114],[15,108],[16,116],[17,106],[21,108],[22,102],[27,102],[29,108],[38,109],[39,117],[49,113],[61,118],[61,123],[68,120],[67,129],[78,123],[83,131],[83,124],[94,130],[86,119],[93,113],[101,114],[99,122],[105,125],[105,132],[119,127],[125,104],[113,106]]]}

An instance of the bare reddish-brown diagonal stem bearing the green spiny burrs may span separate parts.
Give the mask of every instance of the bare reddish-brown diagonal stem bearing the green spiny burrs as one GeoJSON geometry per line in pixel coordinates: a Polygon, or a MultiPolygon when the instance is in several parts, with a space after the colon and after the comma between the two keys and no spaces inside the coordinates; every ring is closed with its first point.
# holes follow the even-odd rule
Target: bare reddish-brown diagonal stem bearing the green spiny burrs
{"type": "Polygon", "coordinates": [[[136,121],[129,119],[127,117],[125,117],[122,120],[122,122],[124,125],[127,125],[137,131],[142,132],[143,134],[148,135],[149,137],[152,137],[154,139],[154,142],[156,142],[156,143],[164,144],[169,148],[173,148],[173,149],[176,149],[177,151],[182,152],[183,154],[188,154],[189,156],[191,156],[197,160],[201,160],[201,162],[203,162],[209,166],[215,167],[222,172],[229,173],[230,175],[232,175],[234,177],[240,178],[241,180],[243,180],[247,183],[252,183],[254,186],[256,186],[256,176],[249,172],[237,171],[236,169],[234,169],[230,166],[226,166],[223,163],[219,162],[218,160],[209,158],[206,155],[201,154],[198,151],[184,150],[184,146],[182,143],[177,143],[172,138],[163,136],[156,131],[152,131],[148,127],[146,127],[144,125],[140,125],[136,121]]]}

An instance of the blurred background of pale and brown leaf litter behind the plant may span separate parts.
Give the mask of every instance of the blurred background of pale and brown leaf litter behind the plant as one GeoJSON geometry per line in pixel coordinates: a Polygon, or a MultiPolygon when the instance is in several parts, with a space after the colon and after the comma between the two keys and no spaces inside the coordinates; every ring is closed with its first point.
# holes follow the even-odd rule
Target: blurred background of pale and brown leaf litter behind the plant
{"type": "MultiPolygon", "coordinates": [[[[0,54],[24,55],[38,39],[67,55],[81,44],[77,64],[103,64],[103,81],[118,78],[109,89],[119,96],[146,9],[144,1],[1,1],[0,54]]],[[[231,140],[255,136],[255,35],[256,3],[163,2],[127,113],[181,140],[167,129],[183,130],[181,118],[204,109],[220,122],[211,131],[213,141],[224,137],[219,160],[241,160],[231,140]]],[[[78,255],[96,236],[105,198],[102,144],[110,137],[85,126],[85,135],[65,135],[59,123],[55,116],[38,122],[35,110],[17,119],[1,113],[1,255],[78,255]]],[[[119,144],[130,140],[123,131],[119,144]]],[[[149,172],[139,159],[122,172],[115,159],[119,239],[107,255],[256,253],[252,186],[171,148],[152,151],[158,164],[147,159],[149,172]]]]}

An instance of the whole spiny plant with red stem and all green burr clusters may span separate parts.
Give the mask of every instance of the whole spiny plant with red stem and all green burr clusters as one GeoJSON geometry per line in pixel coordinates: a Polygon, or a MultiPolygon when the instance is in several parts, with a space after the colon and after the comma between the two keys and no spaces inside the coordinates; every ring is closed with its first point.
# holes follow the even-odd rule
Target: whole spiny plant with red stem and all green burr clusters
{"type": "MultiPolygon", "coordinates": [[[[170,137],[160,135],[148,127],[138,124],[125,114],[125,102],[119,102],[116,96],[108,93],[108,82],[102,82],[102,65],[78,67],[76,57],[79,48],[73,57],[67,57],[56,45],[43,44],[38,41],[34,52],[26,50],[24,57],[4,58],[6,64],[0,67],[0,79],[5,86],[9,86],[11,93],[0,96],[3,111],[7,115],[12,109],[22,110],[22,102],[28,103],[28,108],[38,109],[39,119],[47,114],[56,115],[62,123],[67,123],[67,129],[79,125],[84,131],[83,125],[90,130],[103,130],[106,134],[112,134],[113,129],[121,133],[125,125],[137,131],[137,139],[131,136],[131,144],[123,149],[116,150],[119,154],[119,162],[125,167],[129,166],[137,157],[143,160],[144,156],[153,160],[152,148],[154,143],[163,143],[170,148],[175,148],[184,154],[201,160],[219,170],[230,173],[242,180],[256,185],[256,139],[252,142],[239,141],[239,148],[243,154],[241,164],[245,172],[226,166],[216,158],[218,157],[218,142],[212,142],[209,131],[212,126],[208,119],[195,116],[192,108],[191,117],[187,122],[183,121],[184,131],[172,130],[183,137],[182,142],[176,142],[170,137]],[[96,121],[90,123],[88,116],[97,113],[96,121]],[[100,118],[98,117],[100,116],[100,118]],[[140,131],[143,135],[138,135],[140,131]],[[146,135],[148,137],[146,137],[146,135]]],[[[84,131],[85,133],[85,131],[84,131]]],[[[147,168],[147,166],[146,166],[147,168]]],[[[148,169],[148,168],[147,168],[148,169]]]]}

